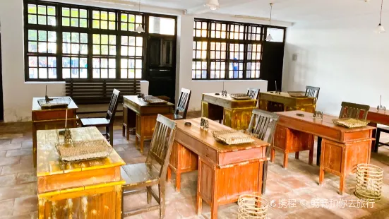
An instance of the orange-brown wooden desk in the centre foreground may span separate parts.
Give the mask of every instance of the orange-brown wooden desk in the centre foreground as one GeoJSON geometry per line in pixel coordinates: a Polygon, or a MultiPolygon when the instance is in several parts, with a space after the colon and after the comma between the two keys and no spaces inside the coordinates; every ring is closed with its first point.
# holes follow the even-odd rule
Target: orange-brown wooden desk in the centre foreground
{"type": "Polygon", "coordinates": [[[197,212],[202,201],[211,206],[211,218],[217,218],[217,207],[237,201],[239,195],[261,192],[263,161],[269,143],[258,140],[237,146],[226,146],[213,138],[212,131],[230,128],[209,121],[209,130],[200,128],[201,118],[176,121],[177,131],[167,179],[176,172],[176,189],[180,189],[182,172],[197,170],[197,212]],[[191,126],[185,126],[191,122],[191,126]]]}

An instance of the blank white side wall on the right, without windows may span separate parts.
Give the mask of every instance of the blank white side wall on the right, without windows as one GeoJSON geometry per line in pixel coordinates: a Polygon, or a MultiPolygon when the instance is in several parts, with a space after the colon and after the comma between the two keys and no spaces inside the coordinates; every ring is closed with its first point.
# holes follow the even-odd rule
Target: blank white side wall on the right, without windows
{"type": "Polygon", "coordinates": [[[376,25],[370,14],[287,28],[282,90],[318,86],[318,110],[333,115],[342,101],[376,107],[380,95],[389,107],[389,37],[374,32],[376,25]]]}

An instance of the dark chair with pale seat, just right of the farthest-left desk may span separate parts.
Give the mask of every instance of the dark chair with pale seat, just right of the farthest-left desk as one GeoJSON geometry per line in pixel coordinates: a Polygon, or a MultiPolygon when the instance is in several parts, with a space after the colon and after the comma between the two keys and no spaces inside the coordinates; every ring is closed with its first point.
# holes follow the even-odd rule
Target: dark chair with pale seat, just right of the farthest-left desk
{"type": "Polygon", "coordinates": [[[105,133],[111,146],[114,146],[114,117],[117,109],[117,105],[119,103],[119,95],[120,91],[114,89],[114,93],[112,93],[111,101],[109,102],[109,107],[107,111],[107,116],[105,118],[85,118],[80,119],[81,126],[96,126],[96,127],[105,127],[105,133]]]}

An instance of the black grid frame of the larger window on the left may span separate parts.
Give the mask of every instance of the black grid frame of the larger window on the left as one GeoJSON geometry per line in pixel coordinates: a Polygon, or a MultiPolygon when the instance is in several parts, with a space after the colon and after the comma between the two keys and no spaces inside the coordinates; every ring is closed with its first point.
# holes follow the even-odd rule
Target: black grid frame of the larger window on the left
{"type": "MultiPolygon", "coordinates": [[[[161,17],[161,18],[172,18],[174,19],[175,23],[177,23],[177,17],[176,16],[169,16],[169,15],[162,15],[162,14],[156,14],[156,13],[143,13],[138,11],[125,11],[117,8],[102,8],[102,7],[95,7],[95,6],[83,6],[78,4],[65,4],[65,3],[59,3],[59,2],[51,2],[51,1],[42,1],[42,0],[23,0],[23,20],[24,20],[24,71],[25,71],[25,81],[35,81],[35,82],[46,82],[46,81],[133,81],[133,80],[143,80],[145,78],[145,71],[148,66],[147,64],[147,40],[149,35],[155,35],[148,32],[148,18],[150,16],[154,17],[161,17]],[[28,23],[28,5],[29,4],[36,4],[36,5],[44,5],[44,6],[54,6],[55,7],[55,18],[56,18],[56,26],[48,25],[39,25],[37,24],[30,24],[28,23]],[[62,8],[69,8],[70,15],[69,18],[71,18],[71,8],[78,8],[78,27],[71,26],[71,19],[69,26],[62,25],[62,8]],[[87,10],[87,28],[80,27],[80,9],[87,10]],[[107,29],[101,29],[100,28],[93,28],[93,11],[107,11],[108,15],[109,12],[115,13],[116,20],[115,22],[115,30],[109,30],[109,23],[107,29]],[[141,16],[142,17],[142,24],[143,29],[145,32],[138,33],[136,31],[125,31],[121,30],[121,14],[126,13],[128,15],[134,15],[134,16],[141,16]],[[28,30],[44,30],[44,31],[54,31],[56,32],[56,54],[50,54],[50,53],[40,53],[38,52],[28,52],[28,30]],[[63,33],[64,32],[78,32],[78,33],[87,33],[88,34],[88,54],[65,54],[63,52],[63,33]],[[116,54],[115,55],[103,55],[101,54],[93,54],[93,34],[99,34],[99,35],[115,35],[116,36],[116,54]],[[141,78],[136,78],[136,75],[134,74],[134,78],[121,78],[121,59],[127,59],[128,56],[122,56],[121,55],[121,37],[122,36],[133,36],[133,37],[142,37],[143,38],[143,45],[142,45],[142,57],[137,57],[136,59],[142,60],[142,69],[141,69],[141,78]],[[30,78],[29,75],[29,61],[28,57],[56,57],[56,78],[49,78],[47,75],[47,78],[39,78],[39,72],[37,78],[30,78]],[[63,58],[68,57],[77,57],[78,59],[87,57],[87,78],[80,78],[80,72],[78,74],[78,78],[63,78],[63,58]],[[116,68],[115,68],[115,78],[93,78],[93,62],[92,60],[94,58],[99,59],[109,59],[114,58],[116,60],[116,68]]],[[[38,13],[37,13],[38,14],[38,13]]],[[[48,16],[46,14],[46,16],[48,16]]],[[[47,18],[48,19],[48,18],[47,18]]],[[[109,16],[108,16],[108,22],[109,22],[109,16]]],[[[38,20],[38,19],[37,19],[38,20]]],[[[101,18],[100,18],[101,21],[101,18]]],[[[38,22],[38,21],[37,21],[38,22]]],[[[136,21],[135,21],[136,23],[136,21]]],[[[100,22],[101,26],[101,22],[100,22]]],[[[136,27],[135,27],[136,28],[136,27]]],[[[176,29],[176,28],[175,28],[176,29]]],[[[174,36],[176,37],[176,31],[174,32],[174,36]]],[[[100,41],[101,42],[101,41],[100,41]]],[[[81,43],[78,42],[80,45],[81,43]]],[[[39,58],[38,58],[39,59],[39,58]]],[[[101,64],[101,63],[100,63],[101,64]]],[[[39,66],[39,63],[37,64],[39,66]]],[[[38,68],[38,67],[37,67],[38,68]]],[[[48,69],[49,67],[47,67],[48,69]]],[[[67,68],[67,67],[65,67],[67,68]]],[[[110,67],[108,67],[110,68],[110,67]]],[[[72,69],[72,67],[69,67],[67,69],[72,69]]],[[[80,63],[78,63],[78,68],[80,69],[80,63]]],[[[101,66],[100,68],[101,69],[101,66]]],[[[70,70],[71,71],[71,70],[70,70]]],[[[101,76],[101,72],[100,72],[101,76]]]]}

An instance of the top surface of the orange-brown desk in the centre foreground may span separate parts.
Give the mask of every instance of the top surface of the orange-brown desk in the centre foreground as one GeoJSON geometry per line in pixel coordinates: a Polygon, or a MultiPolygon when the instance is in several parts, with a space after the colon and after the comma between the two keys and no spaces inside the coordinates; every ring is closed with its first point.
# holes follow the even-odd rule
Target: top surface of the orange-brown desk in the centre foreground
{"type": "Polygon", "coordinates": [[[196,138],[201,143],[217,150],[219,153],[226,153],[235,150],[248,150],[251,148],[261,148],[270,146],[269,143],[261,141],[258,138],[252,137],[255,141],[253,143],[243,143],[239,145],[227,146],[223,143],[219,143],[213,138],[213,131],[231,130],[228,126],[208,120],[209,129],[208,131],[200,128],[201,118],[195,119],[183,119],[176,121],[177,131],[182,131],[189,136],[196,138]],[[191,126],[185,126],[185,122],[191,122],[191,126]]]}

